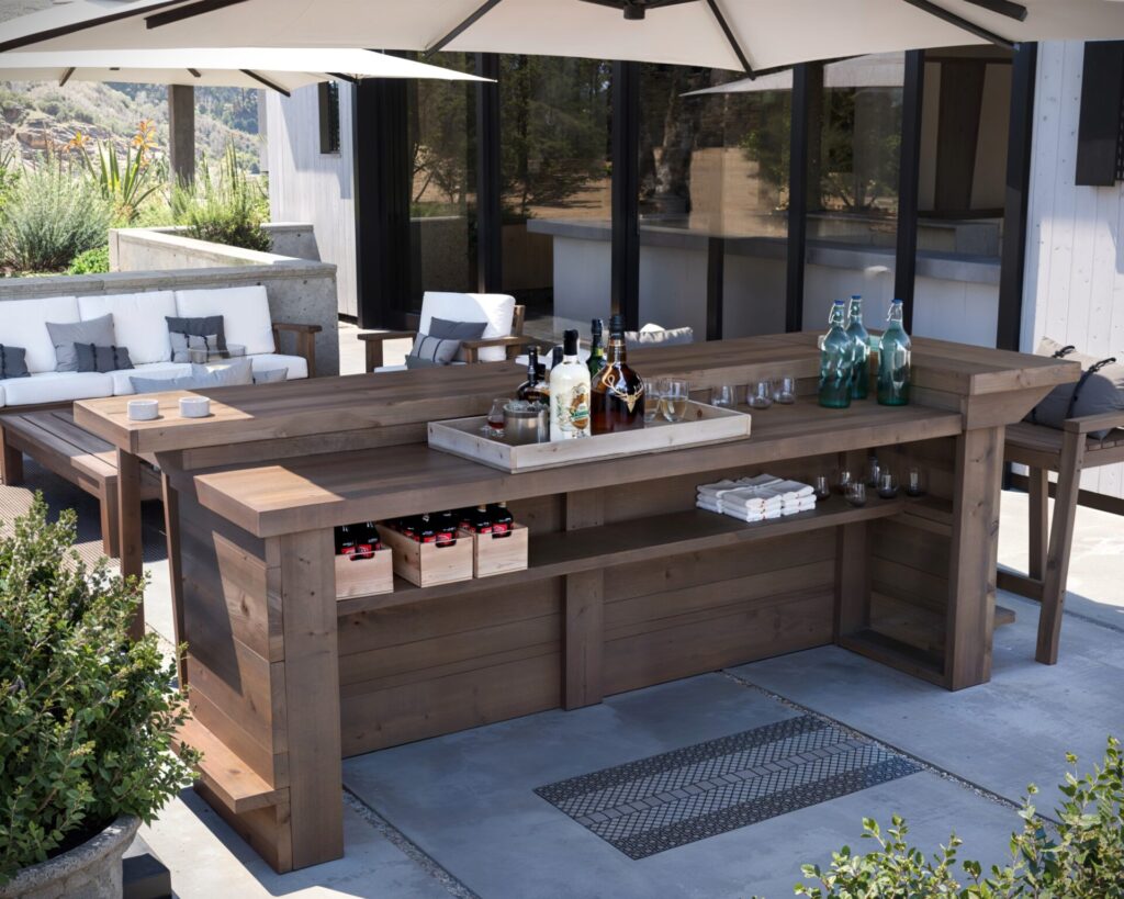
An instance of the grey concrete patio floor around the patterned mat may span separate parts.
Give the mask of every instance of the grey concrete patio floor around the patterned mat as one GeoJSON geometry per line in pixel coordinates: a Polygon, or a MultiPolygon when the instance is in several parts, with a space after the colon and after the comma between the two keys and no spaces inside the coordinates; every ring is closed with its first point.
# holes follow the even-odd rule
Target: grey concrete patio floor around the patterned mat
{"type": "MultiPolygon", "coordinates": [[[[0,514],[46,491],[80,516],[96,557],[97,510],[34,465],[0,487],[0,514]]],[[[147,620],[171,637],[158,506],[146,509],[147,620]]],[[[1025,560],[1026,497],[1003,497],[1000,562],[1025,560]]],[[[191,791],[143,829],[181,897],[749,897],[792,895],[805,862],[861,847],[861,819],[904,815],[935,850],[955,830],[964,859],[1005,857],[1027,783],[1057,800],[1064,753],[1082,769],[1124,734],[1124,518],[1079,509],[1061,661],[1033,661],[1037,606],[1007,593],[990,683],[959,693],[835,647],[796,653],[344,763],[345,857],[279,877],[191,791]],[[569,777],[814,714],[919,762],[900,780],[632,861],[537,797],[569,777]]]]}

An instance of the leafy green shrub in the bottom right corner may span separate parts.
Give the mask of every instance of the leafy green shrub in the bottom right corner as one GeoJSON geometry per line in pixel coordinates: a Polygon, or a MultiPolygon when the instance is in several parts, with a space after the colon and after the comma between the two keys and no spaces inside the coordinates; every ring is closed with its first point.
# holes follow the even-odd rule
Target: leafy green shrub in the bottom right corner
{"type": "MultiPolygon", "coordinates": [[[[1072,754],[1066,756],[1077,764],[1072,754]]],[[[1057,828],[1035,814],[1032,784],[1019,815],[1023,829],[1010,837],[1010,863],[985,872],[979,862],[966,861],[968,878],[952,873],[961,841],[952,835],[948,846],[926,859],[906,842],[908,829],[898,816],[883,837],[878,823],[863,819],[863,837],[878,848],[855,855],[844,846],[832,855],[831,869],[804,865],[804,875],[819,886],[798,883],[796,893],[813,899],[913,899],[954,896],[960,899],[1122,899],[1124,897],[1124,756],[1120,741],[1109,737],[1103,764],[1078,778],[1067,772],[1061,784],[1066,801],[1055,810],[1057,828]]]]}

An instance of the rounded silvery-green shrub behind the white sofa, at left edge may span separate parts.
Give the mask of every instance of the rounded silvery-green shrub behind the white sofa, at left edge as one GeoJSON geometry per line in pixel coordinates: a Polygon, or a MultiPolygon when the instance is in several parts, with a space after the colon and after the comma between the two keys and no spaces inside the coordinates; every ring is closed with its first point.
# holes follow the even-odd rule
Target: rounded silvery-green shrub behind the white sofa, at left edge
{"type": "Polygon", "coordinates": [[[0,257],[26,272],[58,272],[102,246],[112,208],[98,187],[45,158],[24,172],[0,219],[0,257]]]}

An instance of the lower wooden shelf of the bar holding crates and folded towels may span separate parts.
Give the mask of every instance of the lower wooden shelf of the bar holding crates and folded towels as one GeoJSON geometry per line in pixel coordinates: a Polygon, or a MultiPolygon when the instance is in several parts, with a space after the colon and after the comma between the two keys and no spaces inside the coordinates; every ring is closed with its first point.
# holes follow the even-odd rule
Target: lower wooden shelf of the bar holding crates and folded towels
{"type": "Polygon", "coordinates": [[[873,499],[867,506],[854,507],[841,497],[832,497],[812,511],[772,521],[750,524],[725,515],[691,509],[601,527],[544,534],[531,538],[529,564],[524,571],[496,575],[486,581],[459,581],[424,588],[396,578],[392,593],[342,599],[336,603],[336,609],[338,615],[354,615],[475,590],[499,590],[528,581],[644,562],[665,555],[695,553],[825,527],[890,518],[905,511],[912,502],[914,500],[899,497],[891,500],[873,499]]]}

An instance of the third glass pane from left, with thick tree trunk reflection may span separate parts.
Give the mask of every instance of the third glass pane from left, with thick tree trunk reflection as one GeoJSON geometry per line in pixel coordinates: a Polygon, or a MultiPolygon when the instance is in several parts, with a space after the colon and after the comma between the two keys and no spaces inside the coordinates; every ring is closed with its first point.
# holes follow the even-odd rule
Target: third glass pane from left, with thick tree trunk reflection
{"type": "Polygon", "coordinates": [[[783,330],[790,125],[788,73],[643,66],[641,324],[783,330]]]}

